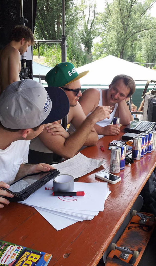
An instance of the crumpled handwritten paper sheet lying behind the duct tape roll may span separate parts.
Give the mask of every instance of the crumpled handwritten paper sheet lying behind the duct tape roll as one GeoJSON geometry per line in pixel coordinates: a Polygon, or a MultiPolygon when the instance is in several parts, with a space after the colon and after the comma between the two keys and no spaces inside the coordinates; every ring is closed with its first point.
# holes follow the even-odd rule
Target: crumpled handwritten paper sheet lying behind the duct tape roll
{"type": "Polygon", "coordinates": [[[91,159],[80,152],[73,158],[68,159],[59,164],[52,164],[53,167],[60,171],[60,174],[70,174],[75,178],[84,176],[87,173],[92,172],[94,169],[104,164],[105,160],[91,159]],[[82,163],[83,162],[83,163],[82,163]]]}

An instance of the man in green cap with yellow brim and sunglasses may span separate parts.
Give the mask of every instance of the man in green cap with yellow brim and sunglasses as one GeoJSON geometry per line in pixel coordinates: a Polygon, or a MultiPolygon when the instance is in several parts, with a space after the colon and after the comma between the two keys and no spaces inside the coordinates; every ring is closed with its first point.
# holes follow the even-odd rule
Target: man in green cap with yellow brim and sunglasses
{"type": "Polygon", "coordinates": [[[70,103],[67,124],[72,123],[76,131],[70,135],[60,127],[61,121],[47,124],[44,131],[30,144],[31,160],[29,163],[34,162],[33,158],[46,157],[47,153],[50,158],[52,152],[65,158],[71,158],[83,145],[94,146],[97,144],[98,135],[94,124],[104,118],[109,118],[111,110],[108,106],[98,106],[86,118],[78,100],[82,96],[80,78],[87,73],[88,71],[78,74],[73,64],[65,62],[57,64],[46,74],[45,80],[48,86],[60,87],[66,93],[70,103]]]}

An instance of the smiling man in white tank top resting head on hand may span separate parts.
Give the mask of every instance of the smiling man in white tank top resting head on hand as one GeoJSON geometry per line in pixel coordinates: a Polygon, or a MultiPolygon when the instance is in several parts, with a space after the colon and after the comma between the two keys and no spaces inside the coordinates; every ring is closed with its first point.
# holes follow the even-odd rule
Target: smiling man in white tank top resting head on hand
{"type": "Polygon", "coordinates": [[[126,75],[114,77],[109,89],[90,88],[83,92],[79,103],[87,116],[93,112],[98,105],[111,106],[110,118],[105,118],[97,122],[94,126],[98,135],[117,135],[120,132],[118,125],[110,124],[113,117],[120,117],[120,124],[128,125],[133,117],[125,102],[135,92],[134,80],[126,75]]]}

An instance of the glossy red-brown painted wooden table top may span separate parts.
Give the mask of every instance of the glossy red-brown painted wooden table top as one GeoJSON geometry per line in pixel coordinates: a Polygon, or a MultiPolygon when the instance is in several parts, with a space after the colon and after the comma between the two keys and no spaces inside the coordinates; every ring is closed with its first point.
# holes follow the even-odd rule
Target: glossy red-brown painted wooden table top
{"type": "MultiPolygon", "coordinates": [[[[95,173],[109,170],[108,143],[121,139],[123,128],[118,136],[105,136],[97,146],[81,151],[87,157],[105,159],[106,162],[103,167],[78,178],[77,182],[103,182],[95,178],[95,173]],[[101,151],[101,145],[105,152],[101,151]]],[[[0,239],[53,254],[50,266],[97,265],[155,166],[155,152],[125,166],[125,170],[118,174],[121,181],[109,184],[112,192],[105,202],[104,211],[92,221],[77,222],[60,231],[55,230],[34,208],[10,203],[0,210],[0,239]]]]}

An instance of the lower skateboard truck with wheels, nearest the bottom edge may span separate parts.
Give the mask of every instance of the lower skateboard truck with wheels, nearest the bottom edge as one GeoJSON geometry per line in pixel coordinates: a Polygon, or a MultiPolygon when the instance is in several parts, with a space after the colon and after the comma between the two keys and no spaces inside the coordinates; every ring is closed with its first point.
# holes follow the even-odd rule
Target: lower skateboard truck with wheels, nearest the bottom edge
{"type": "Polygon", "coordinates": [[[135,251],[132,251],[130,250],[128,247],[118,247],[116,246],[115,243],[112,243],[111,244],[111,250],[119,250],[121,252],[119,258],[121,259],[124,259],[124,260],[127,260],[129,254],[130,255],[133,255],[133,259],[137,259],[138,255],[139,255],[139,252],[137,250],[135,251]]]}

